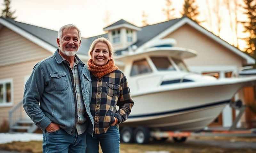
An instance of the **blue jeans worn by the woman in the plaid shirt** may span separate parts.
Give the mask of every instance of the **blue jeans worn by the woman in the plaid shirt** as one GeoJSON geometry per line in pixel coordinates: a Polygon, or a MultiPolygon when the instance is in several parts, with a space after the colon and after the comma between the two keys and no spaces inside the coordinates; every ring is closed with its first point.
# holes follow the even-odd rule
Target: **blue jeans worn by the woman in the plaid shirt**
{"type": "Polygon", "coordinates": [[[86,135],[86,153],[98,153],[99,142],[103,153],[119,153],[120,135],[117,126],[110,126],[106,133],[86,135]]]}

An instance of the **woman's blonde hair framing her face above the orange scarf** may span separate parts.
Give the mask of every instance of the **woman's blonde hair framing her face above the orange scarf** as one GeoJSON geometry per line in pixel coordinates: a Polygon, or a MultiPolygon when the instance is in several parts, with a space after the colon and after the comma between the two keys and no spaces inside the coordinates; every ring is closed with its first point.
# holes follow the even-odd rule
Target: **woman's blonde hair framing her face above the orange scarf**
{"type": "Polygon", "coordinates": [[[104,37],[100,37],[100,38],[97,38],[95,39],[93,42],[92,42],[92,45],[89,49],[89,52],[88,52],[88,55],[92,58],[92,52],[94,50],[94,47],[97,43],[99,42],[102,42],[102,43],[105,43],[107,46],[108,46],[108,52],[109,52],[109,58],[112,58],[113,57],[113,47],[112,47],[112,44],[109,40],[107,40],[106,38],[104,37]]]}

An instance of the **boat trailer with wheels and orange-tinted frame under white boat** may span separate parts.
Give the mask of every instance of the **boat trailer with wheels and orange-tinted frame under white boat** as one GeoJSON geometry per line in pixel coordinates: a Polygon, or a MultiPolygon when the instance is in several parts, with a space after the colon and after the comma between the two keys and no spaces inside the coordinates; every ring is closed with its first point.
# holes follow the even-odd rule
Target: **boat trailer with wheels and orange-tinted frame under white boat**
{"type": "Polygon", "coordinates": [[[138,144],[145,144],[148,143],[149,140],[152,138],[155,141],[165,141],[168,138],[172,137],[174,142],[185,142],[187,138],[190,136],[256,137],[256,129],[243,130],[236,128],[236,125],[238,121],[241,119],[246,108],[246,106],[243,105],[242,101],[230,101],[229,106],[236,110],[239,110],[239,114],[236,116],[236,119],[229,128],[206,127],[205,129],[200,131],[160,131],[146,127],[131,128],[124,126],[120,128],[121,141],[124,143],[135,142],[138,144]]]}

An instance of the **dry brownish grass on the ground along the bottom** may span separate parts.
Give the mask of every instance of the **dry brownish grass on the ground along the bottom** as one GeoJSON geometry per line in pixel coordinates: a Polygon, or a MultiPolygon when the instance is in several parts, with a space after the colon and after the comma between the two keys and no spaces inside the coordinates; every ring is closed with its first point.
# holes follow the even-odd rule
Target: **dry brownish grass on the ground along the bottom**
{"type": "MultiPolygon", "coordinates": [[[[222,137],[220,137],[222,139],[222,137]]],[[[197,138],[200,140],[209,140],[209,137],[200,137],[197,138]]],[[[217,137],[214,138],[217,140],[217,137]]],[[[223,138],[220,141],[226,141],[228,138],[223,138]]],[[[229,138],[230,139],[230,138],[229,138]]],[[[231,138],[232,140],[234,138],[231,138]]],[[[254,139],[241,138],[244,142],[254,139]]],[[[211,139],[213,140],[213,139],[211,139]]],[[[236,141],[240,138],[236,138],[236,141]]],[[[40,141],[30,141],[30,142],[12,142],[6,144],[0,144],[0,149],[3,150],[13,150],[20,152],[32,152],[32,153],[41,153],[42,152],[42,142],[40,141]]],[[[139,144],[125,144],[121,143],[120,153],[146,153],[148,151],[167,151],[169,153],[253,153],[256,152],[256,149],[225,149],[219,148],[217,146],[210,145],[198,145],[193,143],[174,143],[172,141],[167,142],[150,142],[146,145],[139,144]]],[[[100,149],[100,153],[102,153],[100,149]]]]}

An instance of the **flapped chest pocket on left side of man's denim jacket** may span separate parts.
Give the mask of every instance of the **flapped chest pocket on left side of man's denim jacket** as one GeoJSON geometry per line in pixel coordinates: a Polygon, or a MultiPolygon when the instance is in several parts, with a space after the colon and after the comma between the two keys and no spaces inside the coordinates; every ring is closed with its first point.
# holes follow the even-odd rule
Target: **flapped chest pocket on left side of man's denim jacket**
{"type": "Polygon", "coordinates": [[[64,91],[68,89],[68,81],[66,72],[58,72],[50,74],[53,88],[56,91],[64,91]]]}

